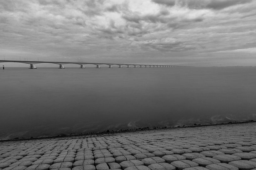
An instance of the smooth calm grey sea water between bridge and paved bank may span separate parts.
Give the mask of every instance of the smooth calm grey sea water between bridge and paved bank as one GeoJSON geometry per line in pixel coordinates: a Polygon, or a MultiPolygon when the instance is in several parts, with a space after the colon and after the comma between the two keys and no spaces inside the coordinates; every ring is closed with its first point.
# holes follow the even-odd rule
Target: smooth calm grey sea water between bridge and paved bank
{"type": "Polygon", "coordinates": [[[255,67],[0,70],[0,139],[256,118],[255,67]]]}

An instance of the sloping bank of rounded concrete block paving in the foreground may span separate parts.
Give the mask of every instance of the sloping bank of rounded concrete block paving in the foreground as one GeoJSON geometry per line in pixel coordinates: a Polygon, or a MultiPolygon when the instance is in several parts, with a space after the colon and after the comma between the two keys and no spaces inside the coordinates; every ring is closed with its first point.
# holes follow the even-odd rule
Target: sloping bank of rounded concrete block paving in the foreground
{"type": "Polygon", "coordinates": [[[0,141],[0,170],[256,170],[256,123],[0,141]]]}

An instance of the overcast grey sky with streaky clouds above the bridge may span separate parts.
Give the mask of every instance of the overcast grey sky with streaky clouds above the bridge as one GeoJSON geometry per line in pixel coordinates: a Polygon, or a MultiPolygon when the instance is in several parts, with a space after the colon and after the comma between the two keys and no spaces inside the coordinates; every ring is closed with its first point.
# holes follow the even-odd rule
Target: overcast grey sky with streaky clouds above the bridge
{"type": "Polygon", "coordinates": [[[256,66],[255,0],[4,0],[0,60],[256,66]]]}

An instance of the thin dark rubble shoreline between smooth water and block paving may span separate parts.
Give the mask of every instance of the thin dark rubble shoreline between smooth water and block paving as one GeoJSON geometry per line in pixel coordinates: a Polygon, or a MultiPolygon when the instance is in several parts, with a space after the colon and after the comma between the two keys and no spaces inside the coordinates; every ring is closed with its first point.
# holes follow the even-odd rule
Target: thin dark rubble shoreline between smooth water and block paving
{"type": "Polygon", "coordinates": [[[120,130],[112,130],[112,131],[102,131],[102,132],[89,132],[89,133],[79,133],[79,134],[59,134],[55,136],[45,136],[45,137],[37,137],[37,138],[12,138],[8,140],[1,140],[1,142],[7,141],[21,141],[21,140],[34,140],[34,139],[47,139],[47,138],[63,138],[63,137],[77,137],[77,136],[86,136],[86,135],[115,135],[124,132],[141,132],[141,131],[151,131],[151,130],[160,130],[160,129],[176,129],[176,128],[190,128],[190,127],[203,127],[203,126],[215,126],[215,125],[227,125],[227,124],[245,124],[256,122],[256,120],[246,120],[241,122],[222,122],[222,123],[210,123],[210,124],[192,124],[192,125],[178,125],[178,126],[164,126],[164,127],[143,127],[143,128],[135,128],[135,129],[120,129],[120,130]]]}

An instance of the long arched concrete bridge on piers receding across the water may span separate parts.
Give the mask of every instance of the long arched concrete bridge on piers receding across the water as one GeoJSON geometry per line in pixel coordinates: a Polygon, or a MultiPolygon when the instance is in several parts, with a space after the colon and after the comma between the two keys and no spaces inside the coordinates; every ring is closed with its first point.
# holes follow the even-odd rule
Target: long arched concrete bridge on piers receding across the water
{"type": "Polygon", "coordinates": [[[127,64],[127,63],[86,63],[86,62],[66,62],[66,61],[18,61],[18,60],[0,60],[0,63],[5,63],[5,62],[12,62],[12,63],[25,63],[29,64],[29,69],[36,69],[36,64],[42,64],[42,63],[50,63],[50,64],[57,64],[59,65],[58,68],[64,69],[65,64],[77,64],[80,65],[79,68],[85,68],[85,65],[91,64],[95,65],[95,68],[101,68],[100,65],[107,65],[108,68],[113,68],[113,65],[117,65],[118,68],[123,68],[123,66],[127,66],[127,68],[131,68],[133,66],[134,68],[140,67],[189,67],[189,66],[174,66],[170,64],[127,64]]]}

